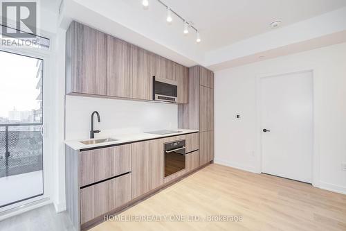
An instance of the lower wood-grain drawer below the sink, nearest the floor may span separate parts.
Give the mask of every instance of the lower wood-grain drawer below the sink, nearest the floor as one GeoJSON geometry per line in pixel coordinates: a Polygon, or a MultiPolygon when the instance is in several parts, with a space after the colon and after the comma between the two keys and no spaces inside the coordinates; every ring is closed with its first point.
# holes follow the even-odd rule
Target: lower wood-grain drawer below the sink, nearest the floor
{"type": "Polygon", "coordinates": [[[91,221],[131,200],[131,173],[80,189],[80,223],[91,221]]]}

